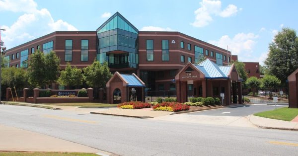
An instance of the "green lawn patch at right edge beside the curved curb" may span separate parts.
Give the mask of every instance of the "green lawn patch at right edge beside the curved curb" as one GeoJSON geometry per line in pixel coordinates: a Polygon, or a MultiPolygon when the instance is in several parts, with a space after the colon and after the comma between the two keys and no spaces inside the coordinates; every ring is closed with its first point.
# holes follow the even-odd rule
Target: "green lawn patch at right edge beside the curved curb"
{"type": "Polygon", "coordinates": [[[277,110],[270,110],[254,114],[255,116],[291,121],[298,115],[298,108],[279,108],[277,110]]]}

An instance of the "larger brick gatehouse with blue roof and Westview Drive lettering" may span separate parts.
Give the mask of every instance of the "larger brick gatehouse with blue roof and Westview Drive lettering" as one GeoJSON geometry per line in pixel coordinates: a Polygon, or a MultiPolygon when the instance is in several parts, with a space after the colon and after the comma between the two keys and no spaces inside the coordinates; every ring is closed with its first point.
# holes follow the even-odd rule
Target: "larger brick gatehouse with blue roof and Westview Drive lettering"
{"type": "Polygon", "coordinates": [[[198,65],[188,63],[176,76],[176,92],[179,102],[188,100],[188,88],[194,97],[219,97],[224,93],[224,105],[242,103],[241,79],[232,64],[218,66],[206,59],[198,65]]]}

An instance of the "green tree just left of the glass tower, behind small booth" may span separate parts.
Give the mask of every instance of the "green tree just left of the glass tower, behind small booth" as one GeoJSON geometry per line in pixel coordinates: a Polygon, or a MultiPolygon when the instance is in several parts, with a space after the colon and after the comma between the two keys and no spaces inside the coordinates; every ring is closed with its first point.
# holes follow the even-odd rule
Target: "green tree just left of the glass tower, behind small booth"
{"type": "Polygon", "coordinates": [[[105,87],[107,81],[112,77],[108,63],[100,64],[94,60],[92,65],[83,69],[84,80],[92,87],[105,87]]]}

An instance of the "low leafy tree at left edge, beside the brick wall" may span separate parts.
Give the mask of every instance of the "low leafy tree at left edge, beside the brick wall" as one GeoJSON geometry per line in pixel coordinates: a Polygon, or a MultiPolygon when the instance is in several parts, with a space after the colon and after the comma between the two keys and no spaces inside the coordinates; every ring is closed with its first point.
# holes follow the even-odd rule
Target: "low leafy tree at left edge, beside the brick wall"
{"type": "Polygon", "coordinates": [[[22,89],[27,84],[26,70],[22,68],[2,68],[1,83],[7,87],[22,89]]]}

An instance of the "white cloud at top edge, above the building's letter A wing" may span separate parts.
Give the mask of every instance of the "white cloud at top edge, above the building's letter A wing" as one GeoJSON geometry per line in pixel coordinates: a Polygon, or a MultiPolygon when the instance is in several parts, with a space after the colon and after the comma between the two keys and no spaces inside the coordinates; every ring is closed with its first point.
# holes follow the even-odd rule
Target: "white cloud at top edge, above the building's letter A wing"
{"type": "Polygon", "coordinates": [[[196,19],[193,23],[190,23],[194,27],[204,27],[208,25],[212,20],[213,15],[221,17],[229,17],[235,15],[239,10],[237,6],[229,4],[224,10],[222,10],[222,2],[220,0],[203,0],[200,2],[201,7],[195,10],[196,19]]]}

